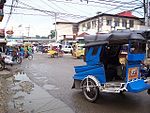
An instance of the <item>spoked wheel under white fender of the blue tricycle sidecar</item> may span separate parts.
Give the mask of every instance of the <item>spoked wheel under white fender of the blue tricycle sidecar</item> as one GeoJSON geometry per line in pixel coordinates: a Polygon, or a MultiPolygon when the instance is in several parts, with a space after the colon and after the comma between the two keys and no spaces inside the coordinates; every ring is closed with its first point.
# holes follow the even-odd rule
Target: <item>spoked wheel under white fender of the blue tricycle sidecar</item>
{"type": "Polygon", "coordinates": [[[82,90],[85,98],[90,102],[95,102],[99,97],[99,89],[96,83],[90,78],[83,81],[82,90]]]}

